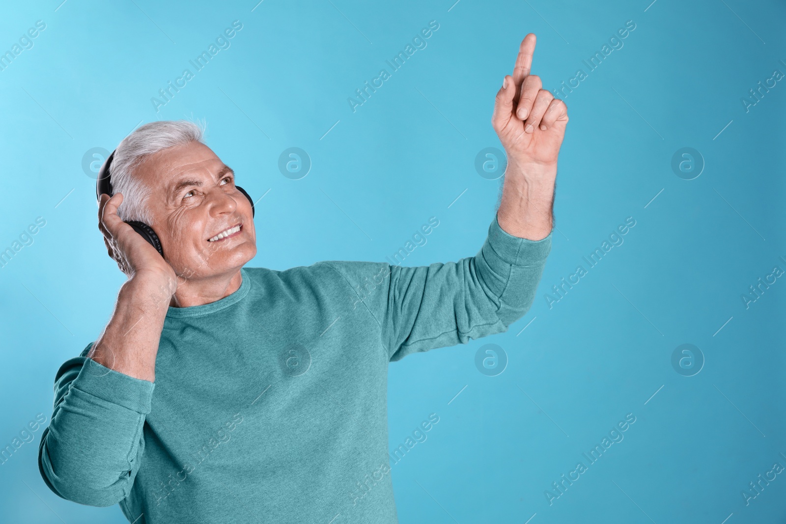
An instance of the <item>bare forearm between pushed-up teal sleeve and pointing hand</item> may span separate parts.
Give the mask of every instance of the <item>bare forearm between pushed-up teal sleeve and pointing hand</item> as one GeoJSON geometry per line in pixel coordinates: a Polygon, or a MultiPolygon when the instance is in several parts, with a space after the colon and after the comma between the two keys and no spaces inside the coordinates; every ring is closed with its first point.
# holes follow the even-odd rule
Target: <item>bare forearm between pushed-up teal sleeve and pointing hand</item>
{"type": "Polygon", "coordinates": [[[497,210],[505,233],[527,240],[542,240],[551,233],[555,180],[556,164],[508,166],[497,210]]]}

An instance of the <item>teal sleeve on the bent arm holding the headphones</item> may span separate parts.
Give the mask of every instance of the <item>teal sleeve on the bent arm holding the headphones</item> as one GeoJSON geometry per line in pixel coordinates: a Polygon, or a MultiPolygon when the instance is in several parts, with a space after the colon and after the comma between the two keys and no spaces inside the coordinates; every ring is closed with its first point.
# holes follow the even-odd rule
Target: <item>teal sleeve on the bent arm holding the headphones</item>
{"type": "Polygon", "coordinates": [[[59,497],[105,507],[127,497],[134,484],[155,384],[86,357],[92,345],[57,371],[52,419],[39,445],[39,471],[59,497]]]}

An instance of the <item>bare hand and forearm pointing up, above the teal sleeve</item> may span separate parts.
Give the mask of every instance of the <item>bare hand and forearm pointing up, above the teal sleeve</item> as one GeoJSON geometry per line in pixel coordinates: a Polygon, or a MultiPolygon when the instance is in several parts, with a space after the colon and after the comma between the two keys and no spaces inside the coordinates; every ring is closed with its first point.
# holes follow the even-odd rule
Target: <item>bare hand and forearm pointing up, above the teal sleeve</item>
{"type": "Polygon", "coordinates": [[[567,125],[567,107],[530,75],[535,35],[525,36],[513,75],[497,93],[491,123],[505,147],[508,167],[498,210],[507,233],[542,240],[553,227],[556,160],[567,125]]]}

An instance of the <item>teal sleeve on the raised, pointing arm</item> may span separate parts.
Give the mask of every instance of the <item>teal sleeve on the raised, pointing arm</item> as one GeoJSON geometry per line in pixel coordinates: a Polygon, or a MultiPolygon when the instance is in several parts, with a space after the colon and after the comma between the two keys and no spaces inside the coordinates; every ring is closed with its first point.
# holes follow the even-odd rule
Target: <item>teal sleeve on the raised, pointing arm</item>
{"type": "Polygon", "coordinates": [[[402,267],[339,262],[356,304],[380,326],[390,361],[505,332],[532,306],[552,233],[542,240],[512,236],[496,214],[474,257],[402,267]]]}

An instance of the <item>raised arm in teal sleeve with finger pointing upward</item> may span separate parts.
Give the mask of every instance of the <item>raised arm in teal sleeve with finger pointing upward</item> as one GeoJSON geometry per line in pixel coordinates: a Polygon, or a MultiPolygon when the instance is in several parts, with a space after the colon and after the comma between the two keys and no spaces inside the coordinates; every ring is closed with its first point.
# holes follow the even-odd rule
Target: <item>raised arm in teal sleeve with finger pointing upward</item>
{"type": "Polygon", "coordinates": [[[504,332],[532,306],[551,251],[556,160],[565,104],[530,75],[535,35],[521,42],[492,124],[508,156],[497,216],[478,254],[421,267],[330,262],[378,326],[391,361],[504,332]]]}

